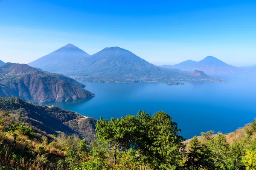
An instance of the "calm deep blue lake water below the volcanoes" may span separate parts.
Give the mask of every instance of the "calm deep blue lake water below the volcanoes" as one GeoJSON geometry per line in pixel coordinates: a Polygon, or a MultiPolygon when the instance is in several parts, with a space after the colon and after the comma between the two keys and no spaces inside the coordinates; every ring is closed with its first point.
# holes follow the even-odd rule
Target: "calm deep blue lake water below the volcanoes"
{"type": "Polygon", "coordinates": [[[256,117],[256,75],[233,77],[228,83],[185,85],[82,83],[95,94],[93,99],[51,104],[95,119],[164,111],[186,139],[208,130],[229,133],[256,117]]]}

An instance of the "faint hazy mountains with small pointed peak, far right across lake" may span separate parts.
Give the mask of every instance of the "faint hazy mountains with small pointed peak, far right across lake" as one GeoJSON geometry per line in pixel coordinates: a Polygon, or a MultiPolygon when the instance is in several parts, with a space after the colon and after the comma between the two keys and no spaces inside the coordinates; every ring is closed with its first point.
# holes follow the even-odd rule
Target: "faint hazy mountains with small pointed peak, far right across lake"
{"type": "Polygon", "coordinates": [[[162,65],[163,68],[176,68],[183,71],[204,71],[204,73],[209,75],[223,75],[223,74],[235,74],[244,73],[245,70],[233,65],[228,65],[227,63],[212,57],[207,56],[203,60],[196,62],[192,60],[187,60],[180,62],[175,65],[162,65]]]}

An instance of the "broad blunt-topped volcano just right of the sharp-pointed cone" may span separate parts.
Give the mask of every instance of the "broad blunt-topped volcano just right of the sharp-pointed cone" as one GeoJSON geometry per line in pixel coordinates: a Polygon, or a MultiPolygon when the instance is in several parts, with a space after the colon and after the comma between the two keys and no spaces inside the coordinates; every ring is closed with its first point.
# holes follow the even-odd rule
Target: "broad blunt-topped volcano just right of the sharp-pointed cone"
{"type": "MultiPolygon", "coordinates": [[[[70,45],[68,45],[70,46],[70,45]]],[[[43,57],[42,57],[43,58],[43,57]]],[[[31,62],[33,63],[33,62],[31,62]]],[[[31,64],[30,63],[30,64],[31,64]]],[[[74,65],[72,61],[69,65],[74,65]]],[[[72,69],[48,65],[49,69],[38,65],[45,71],[53,70],[74,79],[95,82],[167,82],[202,81],[186,71],[166,69],[153,65],[136,54],[120,47],[107,47],[86,57],[72,69]]],[[[193,70],[194,71],[194,70],[193,70]]],[[[207,77],[209,78],[209,77],[207,77]]],[[[209,80],[212,81],[212,80],[209,80]]]]}

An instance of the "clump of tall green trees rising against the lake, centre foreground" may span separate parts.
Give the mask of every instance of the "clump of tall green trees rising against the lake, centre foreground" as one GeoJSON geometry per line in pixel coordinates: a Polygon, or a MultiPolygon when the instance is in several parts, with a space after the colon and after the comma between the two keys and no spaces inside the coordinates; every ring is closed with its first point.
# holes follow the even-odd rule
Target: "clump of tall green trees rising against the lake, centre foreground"
{"type": "Polygon", "coordinates": [[[143,157],[144,164],[153,169],[175,168],[181,159],[183,137],[172,118],[157,112],[153,116],[139,112],[137,116],[122,119],[101,119],[96,124],[98,141],[107,149],[113,148],[113,166],[118,149],[135,147],[143,157]]]}

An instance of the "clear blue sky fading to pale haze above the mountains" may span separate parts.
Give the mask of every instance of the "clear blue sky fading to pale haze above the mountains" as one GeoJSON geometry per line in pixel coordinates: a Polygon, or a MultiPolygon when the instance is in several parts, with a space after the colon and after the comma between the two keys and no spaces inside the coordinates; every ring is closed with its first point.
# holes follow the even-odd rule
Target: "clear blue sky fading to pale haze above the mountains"
{"type": "Polygon", "coordinates": [[[28,63],[67,43],[119,46],[156,64],[207,55],[256,64],[256,0],[0,0],[0,59],[28,63]]]}

